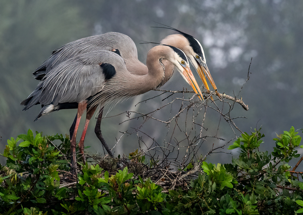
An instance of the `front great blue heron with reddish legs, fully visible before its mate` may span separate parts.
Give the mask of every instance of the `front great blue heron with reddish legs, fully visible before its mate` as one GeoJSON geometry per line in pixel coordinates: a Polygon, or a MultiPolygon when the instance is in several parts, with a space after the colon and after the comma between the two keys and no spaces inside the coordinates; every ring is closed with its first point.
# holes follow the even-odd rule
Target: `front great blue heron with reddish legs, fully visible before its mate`
{"type": "MultiPolygon", "coordinates": [[[[130,62],[131,63],[131,62],[130,62]]],[[[87,109],[85,126],[79,141],[84,158],[84,138],[88,123],[98,105],[122,97],[143,94],[162,86],[176,68],[196,93],[200,88],[189,68],[183,51],[170,45],[157,45],[148,51],[145,75],[132,74],[125,60],[113,51],[93,51],[80,54],[58,64],[43,77],[27,99],[22,101],[27,110],[41,104],[37,120],[55,110],[78,108],[75,129],[71,138],[71,170],[76,174],[76,134],[81,116],[87,109]]]]}

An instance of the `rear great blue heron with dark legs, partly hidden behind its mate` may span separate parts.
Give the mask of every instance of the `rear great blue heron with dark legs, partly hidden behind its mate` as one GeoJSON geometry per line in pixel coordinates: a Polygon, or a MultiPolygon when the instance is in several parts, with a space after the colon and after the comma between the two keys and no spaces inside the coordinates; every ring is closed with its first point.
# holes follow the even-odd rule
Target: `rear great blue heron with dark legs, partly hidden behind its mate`
{"type": "MultiPolygon", "coordinates": [[[[211,82],[213,88],[216,90],[218,97],[220,98],[220,94],[217,91],[217,87],[215,82],[213,81],[211,74],[207,68],[205,55],[203,48],[200,42],[195,39],[193,36],[186,34],[182,31],[179,31],[175,28],[171,28],[166,26],[164,28],[175,30],[178,34],[169,35],[165,39],[161,41],[163,44],[172,45],[177,48],[180,48],[185,52],[185,55],[191,61],[191,64],[194,65],[196,71],[198,72],[200,78],[202,79],[204,86],[207,90],[209,90],[208,84],[205,80],[205,76],[203,72],[208,77],[211,82]]],[[[126,68],[132,74],[144,75],[147,74],[148,68],[138,60],[138,53],[135,43],[129,38],[127,35],[118,33],[118,32],[108,32],[103,35],[96,35],[87,38],[82,38],[73,42],[70,42],[62,47],[56,49],[52,52],[52,55],[44,61],[44,63],[33,72],[34,77],[38,80],[43,80],[45,74],[52,70],[56,65],[65,61],[68,58],[73,56],[87,53],[90,51],[98,51],[98,50],[108,50],[114,51],[122,56],[125,61],[126,68]]],[[[95,133],[106,151],[109,155],[113,157],[111,150],[108,148],[105,143],[104,138],[102,137],[100,124],[102,119],[103,108],[100,109],[100,113],[98,115],[95,133]]],[[[74,126],[77,120],[77,115],[75,120],[70,128],[70,136],[72,137],[72,133],[74,130],[74,126]]]]}

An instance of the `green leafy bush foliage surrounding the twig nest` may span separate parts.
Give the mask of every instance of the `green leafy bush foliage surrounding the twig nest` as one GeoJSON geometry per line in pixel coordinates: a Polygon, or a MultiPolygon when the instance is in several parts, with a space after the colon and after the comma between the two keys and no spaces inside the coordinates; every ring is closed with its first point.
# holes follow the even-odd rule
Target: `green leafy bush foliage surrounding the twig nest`
{"type": "MultiPolygon", "coordinates": [[[[274,139],[273,152],[260,152],[264,134],[244,133],[229,149],[240,149],[230,164],[198,161],[201,172],[187,189],[163,190],[149,178],[110,175],[98,164],[82,166],[78,183],[65,186],[69,140],[31,130],[8,140],[0,167],[0,213],[65,214],[296,214],[303,213],[302,173],[287,162],[300,157],[294,127],[274,139]],[[17,143],[23,140],[19,145],[17,143]],[[53,141],[59,141],[58,147],[53,141]],[[301,180],[300,180],[301,179],[301,180]]],[[[130,159],[133,159],[132,154],[130,159]]],[[[140,159],[139,159],[140,160],[140,159]]],[[[145,159],[143,159],[145,160],[145,159]]],[[[299,164],[299,162],[298,162],[299,164]]],[[[151,165],[153,163],[151,162],[151,165]]],[[[188,171],[192,164],[187,166],[188,171]]]]}

